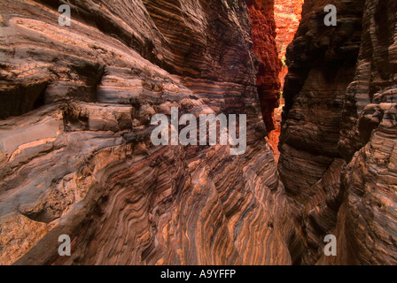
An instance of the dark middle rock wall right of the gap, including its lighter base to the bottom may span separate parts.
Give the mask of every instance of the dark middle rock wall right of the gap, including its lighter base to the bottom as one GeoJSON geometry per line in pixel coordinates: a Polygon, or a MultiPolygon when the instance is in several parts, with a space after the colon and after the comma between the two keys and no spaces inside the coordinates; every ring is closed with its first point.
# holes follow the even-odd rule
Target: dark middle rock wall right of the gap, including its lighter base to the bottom
{"type": "Polygon", "coordinates": [[[337,7],[337,27],[324,25],[323,1],[305,1],[286,54],[278,169],[301,229],[300,244],[291,251],[295,264],[315,264],[323,254],[323,238],[336,225],[343,194],[339,125],[360,49],[364,1],[327,4],[337,7]]]}

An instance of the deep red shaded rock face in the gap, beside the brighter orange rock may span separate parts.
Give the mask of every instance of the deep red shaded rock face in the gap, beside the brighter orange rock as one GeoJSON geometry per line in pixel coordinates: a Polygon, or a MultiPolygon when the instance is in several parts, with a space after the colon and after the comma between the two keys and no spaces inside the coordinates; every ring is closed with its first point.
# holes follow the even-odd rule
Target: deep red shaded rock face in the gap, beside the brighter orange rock
{"type": "Polygon", "coordinates": [[[281,63],[276,49],[274,0],[245,0],[251,19],[253,53],[258,62],[256,84],[268,133],[275,129],[274,109],[279,105],[281,63]]]}

